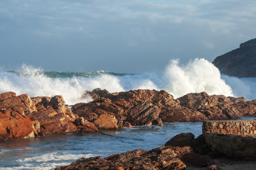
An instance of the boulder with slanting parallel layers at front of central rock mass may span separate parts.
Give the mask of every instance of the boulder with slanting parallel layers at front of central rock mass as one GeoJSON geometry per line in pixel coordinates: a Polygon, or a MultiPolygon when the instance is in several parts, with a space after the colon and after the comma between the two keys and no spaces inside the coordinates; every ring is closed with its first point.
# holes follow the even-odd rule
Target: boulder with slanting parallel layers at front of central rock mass
{"type": "Polygon", "coordinates": [[[162,121],[159,120],[158,107],[152,105],[150,102],[143,102],[131,108],[128,111],[127,120],[131,122],[132,125],[163,125],[162,121]]]}

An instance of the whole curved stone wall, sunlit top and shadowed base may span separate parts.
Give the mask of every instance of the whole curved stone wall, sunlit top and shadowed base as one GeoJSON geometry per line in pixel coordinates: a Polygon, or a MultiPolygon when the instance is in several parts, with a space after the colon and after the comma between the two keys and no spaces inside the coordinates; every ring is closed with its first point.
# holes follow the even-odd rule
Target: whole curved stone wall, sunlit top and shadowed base
{"type": "Polygon", "coordinates": [[[202,128],[213,151],[230,158],[256,160],[256,120],[204,121],[202,128]]]}

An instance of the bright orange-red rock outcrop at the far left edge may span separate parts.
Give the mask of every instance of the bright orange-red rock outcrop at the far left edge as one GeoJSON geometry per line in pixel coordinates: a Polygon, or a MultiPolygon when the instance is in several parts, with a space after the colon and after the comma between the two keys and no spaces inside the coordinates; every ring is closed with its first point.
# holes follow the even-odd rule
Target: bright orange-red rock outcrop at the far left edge
{"type": "Polygon", "coordinates": [[[0,141],[11,138],[34,138],[36,129],[25,112],[36,111],[28,95],[14,92],[0,94],[0,141]]]}

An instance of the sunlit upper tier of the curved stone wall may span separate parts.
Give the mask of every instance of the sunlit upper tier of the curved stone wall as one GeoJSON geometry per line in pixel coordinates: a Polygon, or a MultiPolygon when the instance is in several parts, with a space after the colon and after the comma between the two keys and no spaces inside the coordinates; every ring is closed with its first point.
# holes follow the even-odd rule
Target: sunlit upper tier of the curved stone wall
{"type": "Polygon", "coordinates": [[[202,134],[205,133],[256,134],[256,120],[204,121],[202,134]]]}

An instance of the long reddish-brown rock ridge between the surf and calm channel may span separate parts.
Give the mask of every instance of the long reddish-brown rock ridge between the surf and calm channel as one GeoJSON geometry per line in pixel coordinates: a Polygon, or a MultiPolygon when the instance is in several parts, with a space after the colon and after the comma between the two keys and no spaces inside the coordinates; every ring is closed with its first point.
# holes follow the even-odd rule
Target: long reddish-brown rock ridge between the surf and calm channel
{"type": "Polygon", "coordinates": [[[0,141],[38,135],[91,133],[98,129],[122,129],[131,125],[162,122],[198,122],[256,116],[256,100],[243,97],[189,93],[178,99],[164,90],[131,90],[109,93],[99,88],[85,91],[89,103],[66,105],[54,97],[0,94],[0,141]],[[88,128],[88,126],[90,128],[88,128]]]}

